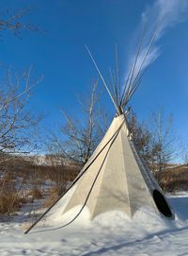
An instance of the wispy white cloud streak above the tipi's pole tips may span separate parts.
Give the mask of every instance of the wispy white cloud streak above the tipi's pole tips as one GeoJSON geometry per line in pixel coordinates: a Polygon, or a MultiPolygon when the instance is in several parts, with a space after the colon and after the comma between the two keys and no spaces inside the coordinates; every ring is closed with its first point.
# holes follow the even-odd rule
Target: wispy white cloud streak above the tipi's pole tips
{"type": "MultiPolygon", "coordinates": [[[[158,32],[149,54],[142,67],[142,71],[146,69],[160,54],[160,46],[158,41],[162,38],[165,31],[169,27],[176,26],[188,18],[188,0],[156,0],[152,6],[148,6],[141,15],[141,24],[148,24],[147,33],[144,38],[142,49],[138,57],[135,73],[139,70],[140,63],[143,60],[145,52],[149,45],[149,40],[152,36],[153,30],[157,26],[160,19],[162,22],[158,28],[158,32]]],[[[131,57],[131,63],[135,58],[135,53],[131,57]]]]}

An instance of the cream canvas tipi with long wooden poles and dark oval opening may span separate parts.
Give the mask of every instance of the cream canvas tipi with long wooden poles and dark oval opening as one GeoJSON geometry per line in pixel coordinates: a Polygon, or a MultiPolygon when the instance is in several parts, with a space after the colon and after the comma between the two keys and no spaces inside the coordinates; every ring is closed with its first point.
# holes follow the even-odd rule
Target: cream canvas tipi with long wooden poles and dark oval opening
{"type": "MultiPolygon", "coordinates": [[[[93,60],[90,52],[89,55],[93,60]]],[[[72,182],[67,193],[60,196],[55,204],[46,213],[43,213],[25,233],[30,231],[42,218],[53,219],[56,211],[59,211],[62,217],[70,213],[69,220],[61,228],[70,225],[85,208],[90,213],[90,219],[101,213],[114,210],[127,213],[132,217],[143,206],[153,208],[163,217],[174,217],[163,191],[136,151],[133,135],[128,127],[127,112],[124,111],[140,82],[142,66],[139,68],[136,66],[137,58],[133,62],[121,97],[118,97],[118,93],[116,94],[118,87],[115,84],[113,85],[114,90],[110,91],[95,60],[93,60],[116,107],[117,115],[102,142],[79,176],[72,182]],[[76,213],[71,215],[71,209],[75,207],[76,213]]],[[[141,65],[143,65],[142,62],[141,65]]]]}

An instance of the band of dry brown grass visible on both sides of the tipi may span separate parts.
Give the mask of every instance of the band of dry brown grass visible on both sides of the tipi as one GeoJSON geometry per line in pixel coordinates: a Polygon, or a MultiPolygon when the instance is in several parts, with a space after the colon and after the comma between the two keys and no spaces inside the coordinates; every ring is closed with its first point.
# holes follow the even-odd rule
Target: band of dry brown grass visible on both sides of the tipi
{"type": "MultiPolygon", "coordinates": [[[[170,167],[157,177],[164,191],[188,190],[188,166],[170,167]]],[[[1,165],[0,170],[4,172],[0,177],[0,215],[15,213],[24,203],[31,202],[31,197],[32,201],[46,198],[41,207],[50,207],[81,168],[79,165],[37,166],[23,158],[1,165]],[[50,182],[48,185],[46,180],[50,182]]]]}

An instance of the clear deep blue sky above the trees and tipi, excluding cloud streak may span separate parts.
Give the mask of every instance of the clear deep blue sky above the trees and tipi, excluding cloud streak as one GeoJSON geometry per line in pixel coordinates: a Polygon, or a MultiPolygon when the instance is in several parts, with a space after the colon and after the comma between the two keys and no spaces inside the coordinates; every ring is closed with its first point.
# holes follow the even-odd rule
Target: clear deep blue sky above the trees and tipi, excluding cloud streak
{"type": "MultiPolygon", "coordinates": [[[[34,76],[44,75],[30,105],[34,111],[47,114],[45,122],[52,128],[61,118],[60,107],[74,114],[77,110],[74,94],[86,92],[97,77],[85,44],[104,74],[114,65],[115,44],[118,44],[123,77],[136,45],[141,14],[153,7],[154,2],[2,0],[1,10],[30,6],[33,10],[24,21],[38,24],[46,32],[24,32],[23,40],[5,33],[4,41],[0,42],[0,60],[16,70],[33,63],[34,76]]],[[[161,54],[149,66],[131,105],[140,119],[146,119],[150,111],[161,106],[166,112],[173,112],[180,139],[188,144],[188,20],[184,18],[183,22],[169,25],[157,44],[161,54]]]]}

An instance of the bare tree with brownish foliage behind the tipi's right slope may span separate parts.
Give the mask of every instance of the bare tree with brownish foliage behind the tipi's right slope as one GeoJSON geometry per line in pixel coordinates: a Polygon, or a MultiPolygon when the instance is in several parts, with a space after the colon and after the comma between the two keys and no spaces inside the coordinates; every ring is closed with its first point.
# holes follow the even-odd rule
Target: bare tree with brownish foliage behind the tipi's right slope
{"type": "Polygon", "coordinates": [[[176,152],[172,114],[165,115],[160,109],[151,113],[147,122],[139,122],[135,113],[130,111],[128,123],[139,155],[154,173],[160,174],[176,152]]]}

